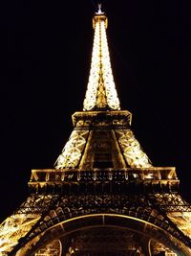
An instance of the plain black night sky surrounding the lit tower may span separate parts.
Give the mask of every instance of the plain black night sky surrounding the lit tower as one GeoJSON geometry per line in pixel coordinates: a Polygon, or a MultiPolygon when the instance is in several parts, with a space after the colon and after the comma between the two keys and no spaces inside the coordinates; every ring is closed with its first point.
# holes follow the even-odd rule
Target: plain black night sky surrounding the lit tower
{"type": "MultiPolygon", "coordinates": [[[[53,168],[82,109],[94,2],[2,1],[0,220],[26,198],[32,169],[53,168]]],[[[176,166],[190,194],[190,7],[183,1],[105,1],[122,109],[154,166],[176,166]]]]}

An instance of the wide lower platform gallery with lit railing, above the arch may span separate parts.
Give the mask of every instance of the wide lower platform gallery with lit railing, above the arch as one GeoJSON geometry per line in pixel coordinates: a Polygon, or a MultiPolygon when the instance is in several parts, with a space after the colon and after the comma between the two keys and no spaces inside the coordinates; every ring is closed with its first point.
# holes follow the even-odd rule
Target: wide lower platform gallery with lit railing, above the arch
{"type": "Polygon", "coordinates": [[[32,170],[31,194],[178,193],[174,167],[32,170]]]}

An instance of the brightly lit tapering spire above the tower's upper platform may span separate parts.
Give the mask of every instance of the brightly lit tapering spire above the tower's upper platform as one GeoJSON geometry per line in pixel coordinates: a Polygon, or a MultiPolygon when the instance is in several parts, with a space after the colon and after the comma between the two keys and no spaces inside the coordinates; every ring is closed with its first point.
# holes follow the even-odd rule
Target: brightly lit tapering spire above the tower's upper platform
{"type": "Polygon", "coordinates": [[[107,17],[101,11],[100,4],[93,17],[93,28],[95,37],[92,63],[83,110],[119,110],[106,36],[107,17]]]}

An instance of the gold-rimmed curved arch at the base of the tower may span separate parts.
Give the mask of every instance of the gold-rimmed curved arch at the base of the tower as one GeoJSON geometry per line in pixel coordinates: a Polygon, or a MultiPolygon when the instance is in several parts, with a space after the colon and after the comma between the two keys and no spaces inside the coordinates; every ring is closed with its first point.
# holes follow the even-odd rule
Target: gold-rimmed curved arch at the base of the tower
{"type": "Polygon", "coordinates": [[[32,241],[16,253],[16,256],[33,256],[40,247],[51,243],[54,239],[60,239],[61,241],[66,242],[68,239],[70,240],[71,238],[76,237],[80,232],[89,232],[90,234],[94,233],[97,228],[99,228],[99,230],[112,230],[113,232],[115,230],[126,230],[129,234],[137,234],[138,238],[142,239],[142,241],[139,241],[139,244],[144,251],[143,254],[139,255],[151,255],[149,245],[150,239],[159,244],[163,244],[178,255],[190,255],[189,249],[184,244],[170,235],[167,231],[159,228],[159,226],[134,217],[117,215],[114,213],[90,214],[74,217],[66,221],[60,221],[32,239],[32,241]]]}

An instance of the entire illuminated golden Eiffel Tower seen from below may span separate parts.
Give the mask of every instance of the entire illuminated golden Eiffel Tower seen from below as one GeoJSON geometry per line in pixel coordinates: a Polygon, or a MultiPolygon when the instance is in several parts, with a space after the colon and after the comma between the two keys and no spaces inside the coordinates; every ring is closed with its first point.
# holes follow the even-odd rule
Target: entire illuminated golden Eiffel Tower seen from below
{"type": "Polygon", "coordinates": [[[0,255],[191,255],[191,205],[120,109],[100,5],[93,27],[83,111],[54,169],[32,170],[28,198],[0,226],[0,255]]]}

